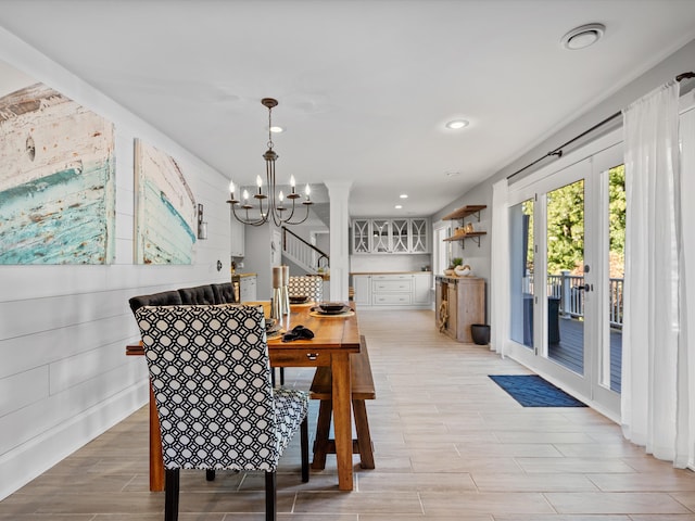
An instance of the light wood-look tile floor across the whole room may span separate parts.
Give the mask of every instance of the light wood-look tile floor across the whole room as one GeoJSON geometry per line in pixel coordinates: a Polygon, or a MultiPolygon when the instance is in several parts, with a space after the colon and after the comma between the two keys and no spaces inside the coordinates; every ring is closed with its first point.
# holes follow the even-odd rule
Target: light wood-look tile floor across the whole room
{"type": "MultiPolygon", "coordinates": [[[[367,403],[375,470],[337,488],[336,458],[299,475],[299,440],[278,474],[280,520],[695,521],[695,473],[644,454],[590,408],[523,408],[488,374],[527,373],[486,347],[440,334],[431,312],[365,312],[377,384],[367,403]]],[[[308,387],[311,369],[288,369],[308,387]]],[[[316,421],[317,404],[312,404],[316,421]]],[[[298,436],[299,437],[299,436],[298,436]]],[[[181,521],[260,521],[263,478],[181,479],[181,521]]],[[[0,503],[0,521],[154,521],[147,408],[0,503]]]]}

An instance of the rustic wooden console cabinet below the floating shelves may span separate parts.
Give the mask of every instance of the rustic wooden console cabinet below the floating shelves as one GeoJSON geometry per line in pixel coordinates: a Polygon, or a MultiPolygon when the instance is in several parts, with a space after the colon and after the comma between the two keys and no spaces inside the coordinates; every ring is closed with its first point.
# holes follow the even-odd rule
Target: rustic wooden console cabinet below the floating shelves
{"type": "Polygon", "coordinates": [[[442,302],[447,317],[443,332],[458,342],[472,343],[470,326],[485,323],[485,280],[477,277],[437,277],[437,327],[442,323],[442,302]]]}

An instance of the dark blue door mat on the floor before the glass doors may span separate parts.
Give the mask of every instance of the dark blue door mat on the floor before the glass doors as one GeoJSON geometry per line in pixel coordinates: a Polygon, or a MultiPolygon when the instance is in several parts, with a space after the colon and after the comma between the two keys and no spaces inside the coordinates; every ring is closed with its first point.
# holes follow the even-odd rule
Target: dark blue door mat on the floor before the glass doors
{"type": "Polygon", "coordinates": [[[489,374],[523,407],[586,407],[538,374],[489,374]]]}

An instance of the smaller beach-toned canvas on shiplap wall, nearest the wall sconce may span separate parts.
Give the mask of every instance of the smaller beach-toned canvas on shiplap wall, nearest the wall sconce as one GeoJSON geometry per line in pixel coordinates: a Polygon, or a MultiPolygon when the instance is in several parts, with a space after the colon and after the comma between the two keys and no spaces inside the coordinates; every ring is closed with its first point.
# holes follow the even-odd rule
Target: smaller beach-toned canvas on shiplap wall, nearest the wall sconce
{"type": "Polygon", "coordinates": [[[178,163],[135,140],[137,264],[191,264],[195,200],[178,163]]]}

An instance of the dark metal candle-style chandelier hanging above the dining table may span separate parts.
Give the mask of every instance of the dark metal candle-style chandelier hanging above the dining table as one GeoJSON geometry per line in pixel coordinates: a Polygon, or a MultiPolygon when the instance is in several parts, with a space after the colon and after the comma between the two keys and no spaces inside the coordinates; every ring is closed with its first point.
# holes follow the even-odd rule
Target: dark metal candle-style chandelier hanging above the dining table
{"type": "MultiPolygon", "coordinates": [[[[274,100],[273,98],[264,98],[263,100],[261,100],[261,103],[268,109],[268,150],[266,150],[265,154],[263,154],[263,158],[265,160],[265,179],[267,192],[263,193],[263,179],[261,178],[261,176],[257,176],[257,191],[253,194],[253,199],[257,201],[257,217],[250,215],[249,211],[253,211],[254,205],[250,201],[248,190],[243,190],[241,194],[241,202],[235,199],[236,187],[233,181],[229,183],[229,193],[231,194],[231,198],[227,202],[231,205],[231,213],[233,214],[235,218],[244,225],[261,226],[268,223],[270,219],[273,219],[275,226],[278,227],[282,225],[301,225],[308,218],[308,207],[314,204],[314,202],[309,199],[311,189],[308,185],[306,185],[306,188],[304,190],[305,199],[304,201],[302,201],[302,205],[305,206],[306,213],[304,214],[304,218],[300,220],[299,215],[296,217],[294,216],[294,211],[295,202],[302,195],[300,195],[295,191],[294,176],[290,177],[290,193],[288,193],[287,195],[285,195],[281,190],[278,192],[276,187],[275,161],[278,158],[278,154],[273,150],[273,107],[277,106],[278,101],[274,100]],[[285,206],[286,199],[292,202],[290,208],[285,206]],[[239,213],[237,213],[237,206],[240,207],[239,213],[243,215],[239,215],[239,213]],[[288,214],[286,214],[286,212],[288,212],[288,214]]],[[[253,213],[255,214],[255,212],[253,213]]],[[[298,212],[298,214],[300,212],[298,212]]]]}

